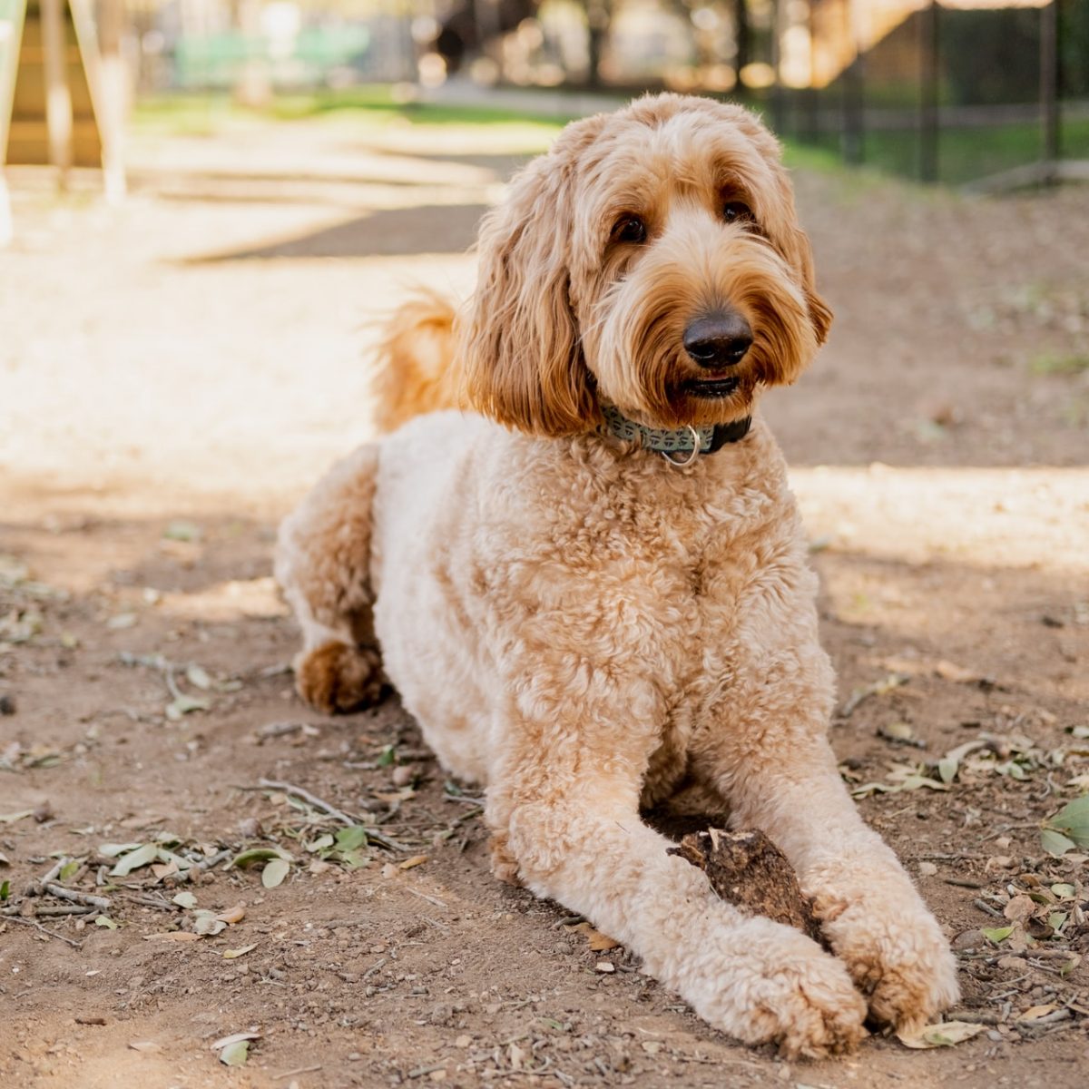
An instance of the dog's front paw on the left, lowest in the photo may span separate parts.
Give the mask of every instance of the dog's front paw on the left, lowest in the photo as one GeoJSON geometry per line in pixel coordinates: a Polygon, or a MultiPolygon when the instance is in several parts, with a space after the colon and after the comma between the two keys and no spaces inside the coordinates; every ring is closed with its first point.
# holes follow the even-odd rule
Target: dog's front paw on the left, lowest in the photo
{"type": "Polygon", "coordinates": [[[719,994],[694,1003],[697,1012],[745,1043],[778,1044],[787,1057],[854,1051],[866,1036],[866,1002],[844,965],[790,927],[754,919],[746,930],[745,952],[719,975],[719,994]]]}

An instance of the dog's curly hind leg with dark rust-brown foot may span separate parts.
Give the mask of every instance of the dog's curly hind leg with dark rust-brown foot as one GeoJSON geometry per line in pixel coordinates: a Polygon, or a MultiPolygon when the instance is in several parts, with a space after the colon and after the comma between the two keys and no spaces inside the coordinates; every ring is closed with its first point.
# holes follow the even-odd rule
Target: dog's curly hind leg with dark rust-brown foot
{"type": "Polygon", "coordinates": [[[298,694],[320,711],[374,703],[386,680],[374,632],[371,501],[378,446],[360,446],[280,526],[276,576],[303,629],[298,694]]]}

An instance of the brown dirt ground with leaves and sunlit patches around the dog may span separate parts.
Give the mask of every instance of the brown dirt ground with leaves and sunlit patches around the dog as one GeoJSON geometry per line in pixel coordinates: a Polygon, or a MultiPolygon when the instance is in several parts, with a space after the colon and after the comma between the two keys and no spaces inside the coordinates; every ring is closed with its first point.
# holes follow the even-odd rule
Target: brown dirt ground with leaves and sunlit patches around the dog
{"type": "Polygon", "coordinates": [[[501,130],[252,123],[140,139],[119,209],[12,180],[4,1084],[1084,1085],[1086,858],[1040,844],[1089,787],[1084,188],[972,203],[800,171],[837,322],[767,404],[822,578],[833,742],[958,950],[974,1039],[879,1036],[818,1064],[732,1044],[490,878],[475,791],[395,699],[326,719],[293,695],[277,521],[368,435],[375,319],[413,281],[468,290],[474,224],[530,149],[501,130]],[[110,845],[149,843],[157,871],[109,874],[110,845]],[[282,883],[265,859],[228,868],[249,847],[290,853],[282,883]],[[58,862],[108,905],[36,884],[58,862]],[[197,927],[221,932],[161,937],[197,927]],[[257,1038],[228,1067],[212,1044],[236,1032],[257,1038]]]}

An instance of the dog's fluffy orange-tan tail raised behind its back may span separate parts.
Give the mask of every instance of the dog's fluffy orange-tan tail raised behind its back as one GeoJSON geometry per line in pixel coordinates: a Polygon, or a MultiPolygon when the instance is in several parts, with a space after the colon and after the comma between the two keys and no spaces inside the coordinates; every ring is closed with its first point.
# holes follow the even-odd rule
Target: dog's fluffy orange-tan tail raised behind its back
{"type": "Polygon", "coordinates": [[[433,292],[420,292],[390,319],[375,375],[375,424],[396,430],[425,413],[461,405],[454,307],[433,292]]]}

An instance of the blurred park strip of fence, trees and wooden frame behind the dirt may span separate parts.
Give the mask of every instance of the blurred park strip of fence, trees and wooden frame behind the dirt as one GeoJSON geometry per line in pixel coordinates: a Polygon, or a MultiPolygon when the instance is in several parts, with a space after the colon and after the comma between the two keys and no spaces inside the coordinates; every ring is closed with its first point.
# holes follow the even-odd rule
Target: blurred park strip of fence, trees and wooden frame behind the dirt
{"type": "Polygon", "coordinates": [[[732,95],[923,181],[1020,183],[1089,156],[1089,0],[0,0],[0,28],[12,163],[115,173],[133,103],[563,114],[576,93],[654,88],[732,95]]]}

